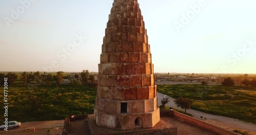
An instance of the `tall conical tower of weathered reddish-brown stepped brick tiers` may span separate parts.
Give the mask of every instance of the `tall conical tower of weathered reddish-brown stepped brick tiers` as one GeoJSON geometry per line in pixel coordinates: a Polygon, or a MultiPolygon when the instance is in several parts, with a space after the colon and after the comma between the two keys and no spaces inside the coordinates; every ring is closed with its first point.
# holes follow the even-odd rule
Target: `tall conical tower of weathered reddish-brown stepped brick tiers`
{"type": "Polygon", "coordinates": [[[94,119],[121,130],[160,121],[150,45],[138,1],[114,0],[103,38],[94,119]]]}

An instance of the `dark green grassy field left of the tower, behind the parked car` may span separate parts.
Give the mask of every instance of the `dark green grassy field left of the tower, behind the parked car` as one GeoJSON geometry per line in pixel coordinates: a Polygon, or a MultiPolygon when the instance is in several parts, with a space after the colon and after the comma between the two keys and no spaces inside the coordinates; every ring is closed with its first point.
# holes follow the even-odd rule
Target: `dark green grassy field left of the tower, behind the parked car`
{"type": "MultiPolygon", "coordinates": [[[[22,82],[23,83],[23,82],[22,82]]],[[[30,85],[8,87],[8,120],[60,120],[75,115],[93,114],[96,88],[87,85],[30,85]]],[[[4,99],[4,95],[0,95],[4,99]]],[[[1,100],[0,104],[3,104],[1,100]]],[[[0,110],[4,114],[4,109],[0,110]]],[[[0,116],[4,119],[4,115],[0,116]]]]}

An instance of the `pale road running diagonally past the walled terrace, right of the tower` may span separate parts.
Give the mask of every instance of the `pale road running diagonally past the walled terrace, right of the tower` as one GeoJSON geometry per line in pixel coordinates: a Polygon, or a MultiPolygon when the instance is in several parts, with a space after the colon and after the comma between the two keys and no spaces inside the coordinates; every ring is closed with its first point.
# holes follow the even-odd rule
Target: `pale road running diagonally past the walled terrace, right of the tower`
{"type": "MultiPolygon", "coordinates": [[[[163,98],[164,94],[157,92],[157,97],[158,97],[158,106],[161,105],[161,100],[163,98]]],[[[165,106],[168,107],[173,107],[173,108],[179,108],[175,105],[174,103],[174,98],[169,97],[170,102],[168,102],[165,106]]],[[[181,109],[181,108],[179,108],[181,109]]],[[[198,110],[194,109],[188,109],[187,113],[193,115],[194,118],[201,119],[200,117],[203,116],[207,117],[207,120],[205,120],[208,123],[214,124],[221,126],[223,128],[226,128],[228,130],[231,129],[244,129],[251,131],[250,133],[256,134],[256,125],[250,124],[250,123],[245,123],[242,121],[239,121],[237,119],[232,119],[228,117],[223,117],[223,116],[216,116],[216,115],[211,115],[207,113],[203,113],[198,110]]],[[[202,120],[202,119],[201,119],[202,120]]]]}

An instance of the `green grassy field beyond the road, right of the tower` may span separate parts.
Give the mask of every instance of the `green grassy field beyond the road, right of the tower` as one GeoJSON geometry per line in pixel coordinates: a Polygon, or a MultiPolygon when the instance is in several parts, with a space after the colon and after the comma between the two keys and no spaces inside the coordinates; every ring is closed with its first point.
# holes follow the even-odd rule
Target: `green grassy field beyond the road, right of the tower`
{"type": "Polygon", "coordinates": [[[157,91],[193,99],[192,109],[256,123],[256,88],[252,86],[158,85],[157,91]]]}

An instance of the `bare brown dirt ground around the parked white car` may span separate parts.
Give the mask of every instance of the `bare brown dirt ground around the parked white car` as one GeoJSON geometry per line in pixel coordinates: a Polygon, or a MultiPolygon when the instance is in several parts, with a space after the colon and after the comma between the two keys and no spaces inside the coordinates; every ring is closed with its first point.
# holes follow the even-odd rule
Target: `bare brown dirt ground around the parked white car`
{"type": "Polygon", "coordinates": [[[4,135],[56,135],[62,134],[64,120],[57,121],[36,121],[36,122],[24,122],[22,126],[18,129],[8,129],[8,131],[0,131],[0,134],[4,135]],[[33,129],[29,129],[25,132],[25,128],[27,127],[35,127],[35,131],[33,129]]]}

